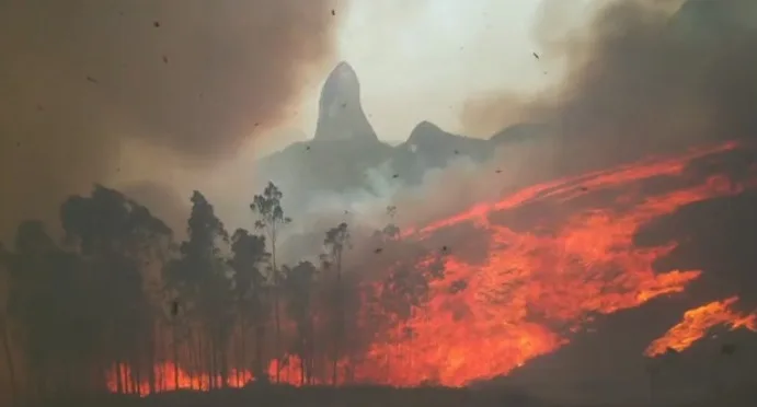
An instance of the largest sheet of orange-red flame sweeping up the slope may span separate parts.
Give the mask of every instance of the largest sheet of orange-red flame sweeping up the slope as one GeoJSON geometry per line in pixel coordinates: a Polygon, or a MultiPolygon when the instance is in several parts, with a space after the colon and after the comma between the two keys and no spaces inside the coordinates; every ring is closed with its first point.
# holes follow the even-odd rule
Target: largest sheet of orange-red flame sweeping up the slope
{"type": "Polygon", "coordinates": [[[491,217],[547,198],[561,205],[588,194],[589,185],[596,191],[661,174],[679,175],[690,160],[731,148],[535,186],[423,229],[421,233],[428,235],[474,221],[480,233],[490,236],[488,258],[480,264],[449,258],[446,278],[433,287],[431,303],[397,326],[387,340],[371,346],[375,365],[364,371],[365,380],[461,386],[506,374],[567,342],[567,333],[581,329],[592,314],[609,314],[681,292],[701,271],[655,272],[654,260],[668,254],[675,243],[639,248],[633,236],[654,218],[741,190],[727,178],[713,176],[658,196],[626,196],[617,209],[585,210],[544,233],[516,232],[493,223],[491,217]],[[449,294],[454,281],[466,281],[467,289],[449,294]],[[404,335],[406,327],[412,327],[412,339],[404,335]]]}

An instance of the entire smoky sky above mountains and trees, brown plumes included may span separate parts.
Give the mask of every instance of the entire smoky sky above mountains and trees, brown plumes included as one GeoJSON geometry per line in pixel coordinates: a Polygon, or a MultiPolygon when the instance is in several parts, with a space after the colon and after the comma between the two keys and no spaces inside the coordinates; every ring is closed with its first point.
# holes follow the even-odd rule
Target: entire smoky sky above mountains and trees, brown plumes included
{"type": "Polygon", "coordinates": [[[680,1],[0,1],[0,229],[55,222],[93,183],[173,220],[198,189],[249,224],[255,159],[312,137],[341,60],[383,140],[422,120],[489,137],[529,97],[570,119],[565,156],[750,130],[755,2],[690,3],[667,30],[680,1]]]}

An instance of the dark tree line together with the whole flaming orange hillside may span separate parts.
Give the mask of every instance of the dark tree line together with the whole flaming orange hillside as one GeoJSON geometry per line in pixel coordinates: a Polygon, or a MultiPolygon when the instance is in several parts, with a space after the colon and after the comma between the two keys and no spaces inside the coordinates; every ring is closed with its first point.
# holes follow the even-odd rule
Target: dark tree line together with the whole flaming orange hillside
{"type": "MultiPolygon", "coordinates": [[[[96,187],[61,206],[62,244],[25,222],[2,252],[3,327],[23,339],[8,351],[13,388],[147,395],[506,375],[597,316],[699,279],[699,269],[655,268],[677,242],[634,236],[685,206],[757,186],[754,165],[696,170],[748,149],[725,143],[534,185],[416,229],[393,224],[402,208],[392,207],[382,231],[339,223],[324,231],[320,261],[296,265],[276,257],[290,220],[273,184],[250,206],[254,230],[233,233],[195,193],[179,245],[145,207],[96,187]]],[[[737,301],[686,312],[645,354],[685,351],[716,325],[756,330],[737,301]]]]}

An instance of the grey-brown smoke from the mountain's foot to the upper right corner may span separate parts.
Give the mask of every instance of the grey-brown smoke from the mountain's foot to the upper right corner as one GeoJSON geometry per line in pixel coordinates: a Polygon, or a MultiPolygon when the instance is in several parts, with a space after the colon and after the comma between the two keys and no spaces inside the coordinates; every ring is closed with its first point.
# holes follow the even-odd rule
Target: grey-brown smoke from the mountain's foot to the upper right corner
{"type": "MultiPolygon", "coordinates": [[[[375,150],[364,146],[359,153],[351,150],[354,146],[313,144],[307,153],[305,146],[293,147],[288,158],[277,158],[280,170],[264,176],[280,181],[288,171],[298,174],[291,184],[284,182],[286,190],[297,191],[288,202],[318,201],[318,216],[339,217],[348,209],[359,221],[359,208],[364,221],[375,223],[386,205],[395,203],[399,220],[422,224],[532,182],[757,137],[757,58],[750,51],[757,45],[757,24],[747,18],[757,15],[753,2],[593,5],[587,27],[560,37],[551,22],[560,20],[557,14],[570,14],[567,5],[542,3],[536,26],[542,48],[535,58],[546,70],[566,63],[559,86],[536,98],[503,94],[470,101],[467,120],[478,117],[481,126],[507,127],[513,116],[542,125],[519,135],[516,128],[496,133],[489,158],[470,160],[472,152],[458,147],[458,139],[418,125],[426,129],[422,132],[431,131],[425,146],[409,140],[391,153],[379,144],[375,150]],[[375,163],[358,159],[364,155],[375,163]],[[366,164],[357,165],[362,162],[366,164]],[[416,170],[408,170],[408,162],[416,170]],[[336,170],[344,165],[351,170],[336,170]]],[[[299,206],[295,213],[301,211],[299,206]]]]}

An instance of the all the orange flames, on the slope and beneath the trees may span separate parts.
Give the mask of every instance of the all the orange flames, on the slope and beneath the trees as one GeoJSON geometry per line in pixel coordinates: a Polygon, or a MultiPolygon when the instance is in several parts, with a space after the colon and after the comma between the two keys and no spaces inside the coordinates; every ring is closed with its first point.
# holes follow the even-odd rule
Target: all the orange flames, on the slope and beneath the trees
{"type": "MultiPolygon", "coordinates": [[[[351,365],[355,382],[462,386],[506,374],[554,351],[597,314],[684,291],[701,270],[658,272],[653,268],[676,243],[636,247],[633,237],[651,220],[686,205],[753,187],[754,183],[739,185],[723,175],[697,179],[686,173],[692,160],[734,148],[735,143],[729,143],[531,186],[405,234],[404,239],[435,242],[437,233],[466,225],[488,239],[483,244],[458,243],[445,257],[444,278],[431,284],[429,301],[381,333],[365,354],[342,364],[351,365]],[[664,178],[676,187],[640,193],[639,183],[652,178],[664,178]],[[497,219],[517,219],[528,225],[515,228],[497,219]],[[471,260],[458,255],[469,249],[485,256],[471,260]]],[[[417,268],[424,261],[428,259],[422,259],[417,268]]],[[[735,301],[688,311],[684,322],[655,340],[646,354],[668,347],[683,350],[718,324],[755,330],[755,315],[730,310],[735,301]]],[[[174,388],[207,388],[210,383],[207,375],[192,375],[170,363],[157,369],[164,383],[180,383],[174,388]],[[179,372],[179,380],[169,372],[179,372]]],[[[252,379],[249,373],[232,376],[243,380],[234,379],[228,383],[231,386],[252,379]]],[[[108,386],[114,389],[112,377],[108,386]]]]}

